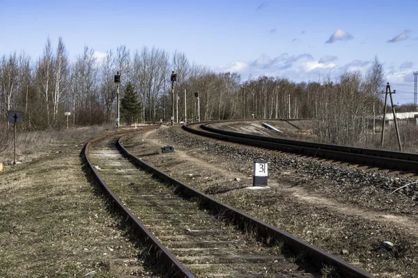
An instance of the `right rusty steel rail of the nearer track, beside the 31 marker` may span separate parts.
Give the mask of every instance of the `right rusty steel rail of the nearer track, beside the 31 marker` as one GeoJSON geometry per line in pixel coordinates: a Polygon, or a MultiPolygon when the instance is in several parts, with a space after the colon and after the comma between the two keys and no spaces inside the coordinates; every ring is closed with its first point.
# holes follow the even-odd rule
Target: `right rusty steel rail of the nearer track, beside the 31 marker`
{"type": "Polygon", "coordinates": [[[189,197],[196,197],[199,199],[203,206],[210,209],[214,213],[222,214],[222,218],[229,220],[235,224],[238,224],[240,227],[250,228],[254,231],[258,236],[263,238],[272,238],[273,240],[279,240],[284,243],[289,250],[293,252],[303,252],[307,255],[309,261],[313,262],[318,269],[323,268],[325,265],[334,266],[336,270],[339,272],[340,277],[346,278],[371,278],[372,275],[364,272],[364,270],[360,270],[356,268],[354,265],[347,263],[339,259],[332,254],[321,250],[320,248],[311,245],[291,234],[286,233],[286,231],[281,231],[275,227],[272,227],[270,224],[262,222],[256,218],[253,218],[246,213],[238,211],[236,208],[219,202],[217,199],[214,199],[208,195],[201,193],[200,191],[187,186],[186,183],[179,181],[171,177],[169,174],[158,170],[156,167],[149,165],[145,161],[142,161],[137,156],[130,154],[121,144],[121,139],[116,142],[116,147],[119,151],[127,158],[130,159],[134,164],[141,167],[146,172],[153,174],[153,176],[157,177],[158,179],[165,181],[173,186],[176,186],[178,190],[180,190],[184,195],[189,197]]]}

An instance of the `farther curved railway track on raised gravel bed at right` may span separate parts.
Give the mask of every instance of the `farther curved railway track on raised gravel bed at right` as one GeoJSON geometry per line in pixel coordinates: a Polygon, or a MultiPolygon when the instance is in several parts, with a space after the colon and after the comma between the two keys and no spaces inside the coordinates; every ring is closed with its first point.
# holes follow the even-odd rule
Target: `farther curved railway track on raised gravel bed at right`
{"type": "MultiPolygon", "coordinates": [[[[418,172],[418,154],[256,136],[233,131],[224,131],[211,126],[212,124],[219,122],[228,121],[192,123],[183,126],[183,129],[200,136],[261,147],[264,149],[273,149],[293,154],[356,163],[358,165],[369,165],[372,167],[382,167],[405,172],[418,172]]],[[[237,122],[237,120],[232,122],[237,122]]]]}

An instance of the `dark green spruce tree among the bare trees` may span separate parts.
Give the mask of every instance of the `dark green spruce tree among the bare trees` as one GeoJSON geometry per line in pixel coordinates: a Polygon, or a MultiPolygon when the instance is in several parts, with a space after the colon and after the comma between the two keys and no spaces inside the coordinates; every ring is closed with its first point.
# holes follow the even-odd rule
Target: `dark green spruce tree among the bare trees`
{"type": "Polygon", "coordinates": [[[121,117],[125,120],[125,124],[132,124],[141,115],[141,102],[138,99],[137,92],[132,83],[127,83],[125,88],[125,96],[121,99],[121,117]]]}

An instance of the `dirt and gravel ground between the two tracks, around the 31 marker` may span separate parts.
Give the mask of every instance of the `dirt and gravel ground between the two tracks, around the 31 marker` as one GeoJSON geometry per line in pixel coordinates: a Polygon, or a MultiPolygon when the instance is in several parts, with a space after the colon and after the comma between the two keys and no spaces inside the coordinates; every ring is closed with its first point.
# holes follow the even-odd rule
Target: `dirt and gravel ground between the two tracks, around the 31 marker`
{"type": "Polygon", "coordinates": [[[417,198],[390,194],[408,181],[404,177],[215,142],[180,127],[162,127],[127,142],[130,152],[173,177],[372,275],[416,277],[417,198]],[[176,152],[161,154],[164,145],[176,152]],[[270,188],[248,190],[252,161],[259,157],[270,161],[270,188]]]}

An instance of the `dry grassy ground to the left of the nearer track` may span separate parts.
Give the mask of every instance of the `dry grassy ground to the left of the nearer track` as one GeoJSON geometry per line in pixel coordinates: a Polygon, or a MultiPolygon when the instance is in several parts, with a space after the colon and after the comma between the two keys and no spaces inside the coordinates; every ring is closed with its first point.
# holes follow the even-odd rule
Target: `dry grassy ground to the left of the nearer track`
{"type": "Polygon", "coordinates": [[[97,136],[45,144],[0,172],[0,277],[151,276],[84,172],[79,154],[97,136]]]}

